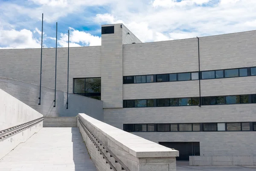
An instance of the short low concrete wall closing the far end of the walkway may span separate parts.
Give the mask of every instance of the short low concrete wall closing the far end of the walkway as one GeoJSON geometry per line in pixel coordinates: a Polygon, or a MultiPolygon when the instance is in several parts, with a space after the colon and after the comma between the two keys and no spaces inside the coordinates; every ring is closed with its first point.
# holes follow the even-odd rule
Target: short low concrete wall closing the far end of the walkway
{"type": "Polygon", "coordinates": [[[46,117],[44,127],[77,127],[77,117],[46,117]]]}

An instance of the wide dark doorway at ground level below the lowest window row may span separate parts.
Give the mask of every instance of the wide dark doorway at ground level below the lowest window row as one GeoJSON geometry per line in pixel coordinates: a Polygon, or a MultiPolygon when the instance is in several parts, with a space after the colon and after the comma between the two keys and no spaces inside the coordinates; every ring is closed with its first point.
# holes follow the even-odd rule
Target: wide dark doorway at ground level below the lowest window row
{"type": "Polygon", "coordinates": [[[176,160],[189,160],[189,156],[200,156],[200,142],[159,142],[160,145],[180,152],[176,160]]]}

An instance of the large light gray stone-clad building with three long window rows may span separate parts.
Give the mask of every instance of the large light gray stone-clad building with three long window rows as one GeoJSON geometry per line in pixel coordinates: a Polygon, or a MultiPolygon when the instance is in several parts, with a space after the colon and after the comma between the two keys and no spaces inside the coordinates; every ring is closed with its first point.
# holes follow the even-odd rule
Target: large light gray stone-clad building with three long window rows
{"type": "MultiPolygon", "coordinates": [[[[15,81],[10,86],[6,78],[39,85],[40,60],[41,49],[1,49],[0,88],[12,94],[15,81]]],[[[256,31],[142,43],[123,24],[103,25],[102,46],[70,48],[69,75],[67,48],[58,48],[62,94],[67,77],[74,101],[87,96],[70,107],[99,119],[103,111],[104,122],[179,150],[177,160],[256,161],[256,31]],[[93,103],[83,104],[88,97],[93,103]]],[[[42,86],[55,88],[55,49],[43,49],[42,86]]],[[[15,92],[27,104],[38,103],[39,92],[30,101],[15,92]]],[[[65,98],[56,106],[61,112],[46,106],[42,114],[71,115],[65,98]]]]}

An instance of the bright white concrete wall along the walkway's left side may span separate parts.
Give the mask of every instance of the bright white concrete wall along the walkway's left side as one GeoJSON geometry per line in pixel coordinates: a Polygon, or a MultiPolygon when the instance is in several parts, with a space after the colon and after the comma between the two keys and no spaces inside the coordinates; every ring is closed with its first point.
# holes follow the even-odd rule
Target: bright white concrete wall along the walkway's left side
{"type": "MultiPolygon", "coordinates": [[[[0,89],[0,130],[41,117],[43,117],[41,113],[38,113],[36,110],[0,89]]],[[[0,159],[12,151],[18,144],[25,142],[30,136],[37,133],[41,128],[43,128],[43,122],[8,136],[9,138],[0,139],[0,159]]]]}

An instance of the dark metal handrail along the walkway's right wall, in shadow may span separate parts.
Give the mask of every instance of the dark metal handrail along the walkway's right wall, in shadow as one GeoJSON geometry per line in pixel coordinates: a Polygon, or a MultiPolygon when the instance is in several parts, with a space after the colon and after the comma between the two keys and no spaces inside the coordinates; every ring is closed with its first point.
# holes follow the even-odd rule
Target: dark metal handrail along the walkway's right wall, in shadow
{"type": "MultiPolygon", "coordinates": [[[[122,170],[125,170],[125,171],[130,171],[130,169],[118,158],[116,157],[115,154],[113,154],[109,148],[104,144],[102,143],[102,141],[99,140],[99,138],[97,136],[95,136],[94,133],[92,133],[85,125],[84,123],[81,121],[81,119],[78,117],[78,120],[79,120],[79,123],[81,124],[81,126],[83,127],[83,129],[87,129],[87,131],[90,132],[90,134],[92,134],[92,136],[96,139],[96,141],[98,141],[100,143],[100,145],[103,146],[103,149],[105,148],[106,149],[106,152],[111,154],[110,156],[113,157],[115,159],[116,162],[118,162],[121,166],[122,166],[122,170]]],[[[84,131],[85,131],[84,129],[84,131]]],[[[93,140],[93,138],[87,133],[87,131],[85,131],[85,133],[89,136],[89,138],[93,141],[94,145],[96,145],[96,148],[99,149],[99,151],[101,151],[101,149],[99,148],[99,146],[96,144],[96,142],[93,140]]],[[[102,153],[102,152],[101,152],[102,153]]],[[[102,155],[105,156],[105,154],[102,153],[102,155]]],[[[105,157],[106,160],[108,160],[106,157],[105,157]]],[[[109,161],[109,160],[108,160],[109,161]]],[[[111,163],[109,163],[110,165],[112,165],[111,163]]],[[[114,168],[114,170],[116,170],[116,168],[114,168]]]]}

